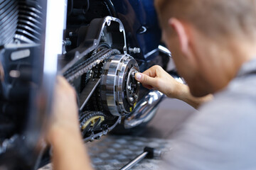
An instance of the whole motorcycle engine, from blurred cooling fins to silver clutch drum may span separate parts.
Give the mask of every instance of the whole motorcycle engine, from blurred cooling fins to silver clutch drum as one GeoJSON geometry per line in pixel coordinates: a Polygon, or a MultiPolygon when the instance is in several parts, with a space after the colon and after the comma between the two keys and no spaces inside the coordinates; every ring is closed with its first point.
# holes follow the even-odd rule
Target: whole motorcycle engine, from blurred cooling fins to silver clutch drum
{"type": "MultiPolygon", "coordinates": [[[[41,77],[33,68],[43,67],[37,53],[43,44],[43,8],[37,0],[0,0],[0,9],[3,144],[27,126],[29,96],[41,81],[33,79],[41,77]]],[[[107,1],[68,1],[58,69],[77,91],[85,142],[110,132],[139,99],[134,79],[139,66],[127,52],[124,26],[115,15],[107,1]]]]}

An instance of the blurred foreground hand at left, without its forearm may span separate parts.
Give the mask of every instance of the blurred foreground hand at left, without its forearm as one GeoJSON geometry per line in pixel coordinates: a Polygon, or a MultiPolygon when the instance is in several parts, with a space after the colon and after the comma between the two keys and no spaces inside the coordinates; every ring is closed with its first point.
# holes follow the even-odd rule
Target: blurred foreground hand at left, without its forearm
{"type": "Polygon", "coordinates": [[[51,116],[48,142],[53,142],[56,133],[80,134],[76,93],[63,77],[57,77],[51,116]]]}

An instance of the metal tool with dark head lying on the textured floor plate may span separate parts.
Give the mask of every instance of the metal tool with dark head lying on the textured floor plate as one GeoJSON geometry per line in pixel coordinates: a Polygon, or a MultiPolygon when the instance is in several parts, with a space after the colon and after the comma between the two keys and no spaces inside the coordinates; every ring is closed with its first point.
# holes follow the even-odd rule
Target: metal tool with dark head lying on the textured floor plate
{"type": "Polygon", "coordinates": [[[131,169],[134,165],[138,164],[144,158],[156,159],[156,158],[161,158],[161,156],[162,156],[161,150],[154,149],[152,147],[144,147],[144,152],[142,154],[139,154],[131,162],[124,165],[120,170],[131,169]]]}

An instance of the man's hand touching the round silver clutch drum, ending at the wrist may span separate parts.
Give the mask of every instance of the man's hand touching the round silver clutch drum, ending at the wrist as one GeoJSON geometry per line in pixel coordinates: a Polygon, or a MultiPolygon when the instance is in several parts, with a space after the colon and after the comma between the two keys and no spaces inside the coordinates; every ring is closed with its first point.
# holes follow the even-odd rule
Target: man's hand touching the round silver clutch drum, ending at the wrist
{"type": "Polygon", "coordinates": [[[143,73],[137,73],[135,79],[147,89],[161,91],[170,98],[178,98],[178,92],[180,92],[181,86],[185,86],[157,65],[147,69],[143,73]]]}

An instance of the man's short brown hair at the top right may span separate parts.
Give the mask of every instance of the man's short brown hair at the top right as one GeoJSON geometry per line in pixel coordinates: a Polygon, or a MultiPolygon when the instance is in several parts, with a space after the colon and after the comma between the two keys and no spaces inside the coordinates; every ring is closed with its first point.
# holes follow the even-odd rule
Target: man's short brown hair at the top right
{"type": "Polygon", "coordinates": [[[208,36],[255,35],[256,0],[155,0],[162,27],[175,17],[208,36]]]}

